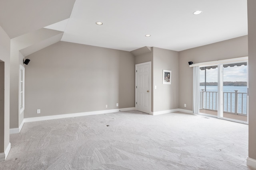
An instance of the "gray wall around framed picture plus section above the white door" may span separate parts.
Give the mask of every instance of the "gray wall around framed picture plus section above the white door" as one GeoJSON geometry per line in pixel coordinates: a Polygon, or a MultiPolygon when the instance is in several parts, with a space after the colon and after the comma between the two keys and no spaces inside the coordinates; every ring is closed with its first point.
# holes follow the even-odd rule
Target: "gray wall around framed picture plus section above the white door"
{"type": "Polygon", "coordinates": [[[151,61],[151,111],[177,109],[179,102],[178,52],[157,47],[142,47],[132,51],[135,64],[151,61]],[[150,48],[150,50],[145,50],[150,48]],[[172,70],[172,84],[162,84],[163,70],[172,70]],[[157,88],[154,89],[154,86],[157,88]]]}

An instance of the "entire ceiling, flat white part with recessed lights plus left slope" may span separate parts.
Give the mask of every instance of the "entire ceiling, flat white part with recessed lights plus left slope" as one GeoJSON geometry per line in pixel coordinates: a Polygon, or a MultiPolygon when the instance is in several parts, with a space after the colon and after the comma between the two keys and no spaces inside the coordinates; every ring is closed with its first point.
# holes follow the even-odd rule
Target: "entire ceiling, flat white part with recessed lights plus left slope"
{"type": "Polygon", "coordinates": [[[1,0],[0,25],[10,38],[48,25],[64,32],[61,41],[182,51],[247,35],[247,1],[1,0]],[[194,15],[197,10],[202,13],[194,15]]]}

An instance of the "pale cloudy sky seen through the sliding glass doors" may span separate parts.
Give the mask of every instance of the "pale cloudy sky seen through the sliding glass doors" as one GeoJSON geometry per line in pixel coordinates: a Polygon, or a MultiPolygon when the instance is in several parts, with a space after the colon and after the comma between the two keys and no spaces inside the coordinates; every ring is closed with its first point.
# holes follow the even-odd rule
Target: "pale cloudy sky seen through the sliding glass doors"
{"type": "MultiPolygon", "coordinates": [[[[247,66],[223,68],[224,82],[247,82],[247,66]]],[[[200,82],[204,82],[204,70],[200,70],[200,82]]],[[[218,82],[218,68],[206,70],[206,82],[218,82]]]]}

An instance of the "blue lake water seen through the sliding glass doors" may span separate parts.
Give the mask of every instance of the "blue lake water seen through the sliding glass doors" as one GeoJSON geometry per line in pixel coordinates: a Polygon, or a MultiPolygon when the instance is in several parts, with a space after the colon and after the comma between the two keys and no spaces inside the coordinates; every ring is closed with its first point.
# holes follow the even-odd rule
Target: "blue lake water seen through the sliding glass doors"
{"type": "MultiPolygon", "coordinates": [[[[204,86],[200,86],[201,89],[204,89],[204,86]]],[[[238,110],[237,112],[240,114],[247,114],[247,94],[241,94],[241,93],[247,93],[247,86],[223,86],[223,110],[227,112],[235,112],[235,90],[238,90],[238,110]],[[228,93],[227,93],[228,92],[228,93]]],[[[212,109],[217,110],[218,109],[218,98],[217,93],[218,92],[218,86],[206,86],[206,92],[204,92],[204,101],[202,105],[201,100],[201,108],[204,109],[212,109]],[[209,93],[213,92],[213,93],[209,93]],[[217,104],[216,104],[217,103],[217,104]]],[[[202,95],[202,94],[201,94],[202,95]]]]}

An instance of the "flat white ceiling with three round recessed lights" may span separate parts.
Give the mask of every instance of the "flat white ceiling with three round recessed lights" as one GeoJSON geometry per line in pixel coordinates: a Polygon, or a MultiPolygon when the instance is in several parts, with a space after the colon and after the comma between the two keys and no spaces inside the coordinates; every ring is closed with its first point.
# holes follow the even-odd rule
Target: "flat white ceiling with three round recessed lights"
{"type": "Polygon", "coordinates": [[[64,30],[62,41],[124,51],[182,51],[248,34],[246,0],[76,0],[65,23],[48,28],[64,30]]]}

